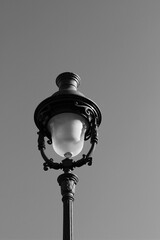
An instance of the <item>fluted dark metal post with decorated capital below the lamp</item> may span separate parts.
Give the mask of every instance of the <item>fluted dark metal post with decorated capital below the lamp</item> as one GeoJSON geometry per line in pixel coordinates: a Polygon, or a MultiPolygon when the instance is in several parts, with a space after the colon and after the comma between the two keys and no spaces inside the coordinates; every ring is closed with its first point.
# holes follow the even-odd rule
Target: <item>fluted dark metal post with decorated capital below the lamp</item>
{"type": "Polygon", "coordinates": [[[73,201],[78,177],[72,173],[64,173],[57,181],[63,201],[63,240],[73,240],[73,201]]]}

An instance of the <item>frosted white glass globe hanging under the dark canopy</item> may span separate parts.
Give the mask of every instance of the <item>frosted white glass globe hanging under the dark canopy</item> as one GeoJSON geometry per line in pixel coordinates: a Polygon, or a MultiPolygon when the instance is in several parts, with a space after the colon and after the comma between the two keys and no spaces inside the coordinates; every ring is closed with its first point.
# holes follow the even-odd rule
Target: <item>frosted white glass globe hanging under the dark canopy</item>
{"type": "Polygon", "coordinates": [[[58,114],[50,119],[48,129],[53,149],[61,157],[74,157],[82,151],[87,123],[80,115],[58,114]]]}

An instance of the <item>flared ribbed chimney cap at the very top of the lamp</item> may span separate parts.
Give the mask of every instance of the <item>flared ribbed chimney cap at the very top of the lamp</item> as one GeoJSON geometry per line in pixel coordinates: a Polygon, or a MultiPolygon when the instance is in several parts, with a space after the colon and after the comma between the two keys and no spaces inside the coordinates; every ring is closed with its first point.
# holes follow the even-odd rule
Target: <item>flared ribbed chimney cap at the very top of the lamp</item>
{"type": "Polygon", "coordinates": [[[56,84],[59,90],[75,90],[79,87],[81,78],[72,72],[64,72],[56,78],[56,84]]]}

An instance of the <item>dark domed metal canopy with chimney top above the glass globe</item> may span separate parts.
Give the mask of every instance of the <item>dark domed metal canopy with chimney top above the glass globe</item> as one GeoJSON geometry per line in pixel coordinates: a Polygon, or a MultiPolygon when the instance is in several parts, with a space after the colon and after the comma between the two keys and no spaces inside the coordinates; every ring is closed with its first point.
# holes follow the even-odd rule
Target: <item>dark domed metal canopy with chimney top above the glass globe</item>
{"type": "Polygon", "coordinates": [[[86,98],[77,88],[80,77],[72,72],[61,73],[56,78],[59,91],[43,100],[36,108],[34,121],[37,128],[52,142],[51,130],[48,124],[52,118],[62,113],[73,113],[81,116],[86,122],[85,140],[91,137],[93,122],[101,123],[101,112],[96,103],[86,98]]]}

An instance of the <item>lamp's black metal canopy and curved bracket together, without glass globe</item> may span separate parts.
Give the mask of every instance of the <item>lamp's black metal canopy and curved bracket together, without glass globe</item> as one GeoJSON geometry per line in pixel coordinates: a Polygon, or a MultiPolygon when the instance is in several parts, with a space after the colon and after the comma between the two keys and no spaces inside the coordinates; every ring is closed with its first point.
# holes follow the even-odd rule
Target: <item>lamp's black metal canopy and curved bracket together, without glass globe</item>
{"type": "Polygon", "coordinates": [[[82,93],[77,91],[80,85],[80,77],[71,72],[64,72],[56,79],[59,91],[51,97],[42,101],[35,110],[34,121],[39,129],[38,132],[38,149],[44,159],[44,170],[62,169],[65,173],[73,171],[76,167],[85,164],[92,165],[92,153],[98,143],[97,128],[101,123],[101,112],[99,107],[90,99],[86,98],[82,93]],[[48,158],[45,154],[45,138],[47,143],[52,144],[51,133],[48,129],[49,120],[61,113],[75,113],[82,116],[87,122],[87,130],[84,140],[90,139],[91,147],[88,153],[82,155],[82,158],[73,161],[73,159],[65,158],[60,163],[55,162],[52,158],[48,158]]]}

